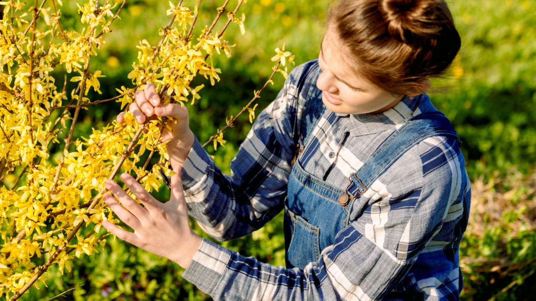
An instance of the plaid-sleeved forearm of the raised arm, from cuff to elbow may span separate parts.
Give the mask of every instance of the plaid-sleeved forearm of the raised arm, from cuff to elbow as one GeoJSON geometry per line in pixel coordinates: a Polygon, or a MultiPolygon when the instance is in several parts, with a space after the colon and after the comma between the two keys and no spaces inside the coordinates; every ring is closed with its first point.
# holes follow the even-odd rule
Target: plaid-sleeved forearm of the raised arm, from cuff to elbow
{"type": "MultiPolygon", "coordinates": [[[[255,164],[251,158],[239,151],[236,160],[249,169],[255,164]]],[[[234,177],[223,175],[197,141],[182,169],[188,213],[218,240],[241,237],[262,227],[280,211],[284,199],[285,179],[274,182],[269,171],[255,171],[257,179],[265,178],[266,185],[251,193],[254,176],[237,173],[234,177]]]]}

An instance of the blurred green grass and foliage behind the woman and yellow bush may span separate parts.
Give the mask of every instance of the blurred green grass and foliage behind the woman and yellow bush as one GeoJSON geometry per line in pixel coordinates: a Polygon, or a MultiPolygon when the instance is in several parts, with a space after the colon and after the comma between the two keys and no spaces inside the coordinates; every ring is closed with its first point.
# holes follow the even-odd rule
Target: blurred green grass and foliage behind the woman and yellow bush
{"type": "MultiPolygon", "coordinates": [[[[75,3],[64,1],[64,27],[76,24],[75,3]]],[[[186,3],[195,5],[193,1],[186,3]]],[[[473,235],[470,225],[466,234],[460,257],[488,261],[482,261],[483,264],[470,261],[466,265],[470,273],[464,278],[461,298],[465,300],[525,300],[536,293],[534,285],[530,285],[536,281],[531,274],[536,269],[534,228],[525,227],[512,234],[509,227],[519,223],[520,215],[527,210],[526,206],[516,207],[516,204],[522,199],[533,201],[534,197],[534,182],[524,182],[527,175],[534,174],[536,162],[536,18],[533,12],[536,7],[531,3],[524,0],[449,3],[463,48],[451,73],[433,81],[437,89],[430,93],[431,98],[451,119],[463,140],[470,178],[488,184],[489,190],[497,193],[513,191],[507,200],[513,209],[502,212],[500,223],[490,222],[478,236],[473,235]],[[497,274],[490,262],[499,258],[505,258],[512,266],[517,262],[527,264],[510,269],[510,273],[497,274]]],[[[203,10],[214,11],[220,5],[205,0],[203,10]]],[[[126,4],[122,20],[114,22],[108,44],[92,60],[90,70],[102,70],[107,77],[101,79],[103,94],[90,95],[90,99],[107,99],[117,95],[116,87],[132,86],[126,74],[136,61],[136,46],[143,39],[152,44],[158,42],[158,29],[167,25],[168,7],[166,1],[157,0],[133,0],[126,4]]],[[[206,141],[221,129],[225,118],[236,115],[251,99],[254,89],[264,84],[272,71],[270,58],[274,48],[286,43],[297,64],[317,57],[327,7],[328,0],[250,0],[244,4],[246,34],[241,36],[238,28],[229,28],[226,38],[231,44],[236,43],[233,57],[215,59],[214,64],[222,70],[221,81],[214,87],[204,82],[202,99],[190,108],[190,125],[200,141],[206,141]]],[[[198,22],[207,21],[204,15],[201,18],[198,22]]],[[[279,76],[274,81],[276,84],[263,92],[258,108],[266,107],[277,95],[283,79],[279,76]]],[[[90,107],[84,112],[84,124],[80,124],[76,135],[85,135],[92,127],[101,128],[118,112],[118,103],[90,107]]],[[[244,116],[224,133],[228,141],[225,147],[217,151],[212,145],[206,148],[225,172],[229,172],[229,161],[249,128],[244,116]]],[[[161,189],[158,198],[168,198],[166,189],[161,189]]],[[[284,265],[282,216],[253,235],[224,245],[263,262],[284,265]]],[[[182,270],[166,259],[111,237],[99,252],[73,260],[71,271],[63,276],[57,269],[49,269],[48,288],[40,284],[39,290],[32,289],[21,299],[46,300],[71,288],[74,289],[56,299],[210,299],[183,281],[182,270]]]]}

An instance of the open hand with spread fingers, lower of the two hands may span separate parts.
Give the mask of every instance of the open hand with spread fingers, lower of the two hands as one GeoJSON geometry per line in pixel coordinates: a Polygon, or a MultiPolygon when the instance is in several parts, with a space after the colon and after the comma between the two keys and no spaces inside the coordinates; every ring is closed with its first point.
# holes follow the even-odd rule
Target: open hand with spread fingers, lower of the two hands
{"type": "Polygon", "coordinates": [[[187,268],[199,249],[202,238],[190,227],[182,180],[178,174],[171,178],[171,197],[165,204],[154,199],[129,174],[122,174],[121,179],[144,207],[129,197],[113,180],[107,180],[106,188],[124,207],[109,193],[104,195],[103,200],[134,232],[123,230],[109,221],[102,222],[102,226],[125,242],[187,268]]]}

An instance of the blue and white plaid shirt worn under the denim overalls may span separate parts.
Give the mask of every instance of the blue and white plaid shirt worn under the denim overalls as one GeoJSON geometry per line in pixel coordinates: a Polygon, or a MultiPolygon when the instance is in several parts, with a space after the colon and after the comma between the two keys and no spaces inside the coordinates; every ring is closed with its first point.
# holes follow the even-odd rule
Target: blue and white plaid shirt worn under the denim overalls
{"type": "MultiPolygon", "coordinates": [[[[241,237],[281,210],[305,99],[296,81],[307,64],[316,60],[297,66],[277,99],[259,114],[231,163],[230,176],[196,140],[182,178],[189,214],[207,234],[218,240],[241,237]]],[[[405,97],[381,114],[338,114],[335,124],[319,123],[331,128],[315,131],[321,145],[303,168],[345,189],[348,176],[398,126],[427,111],[435,108],[421,95],[405,97]]],[[[326,109],[321,118],[327,114],[326,109]]],[[[285,269],[204,239],[183,277],[214,299],[457,300],[462,287],[458,249],[470,186],[455,139],[427,138],[361,196],[369,207],[351,213],[350,225],[318,262],[303,270],[285,269]],[[397,206],[408,199],[414,199],[406,202],[411,205],[397,206]]]]}

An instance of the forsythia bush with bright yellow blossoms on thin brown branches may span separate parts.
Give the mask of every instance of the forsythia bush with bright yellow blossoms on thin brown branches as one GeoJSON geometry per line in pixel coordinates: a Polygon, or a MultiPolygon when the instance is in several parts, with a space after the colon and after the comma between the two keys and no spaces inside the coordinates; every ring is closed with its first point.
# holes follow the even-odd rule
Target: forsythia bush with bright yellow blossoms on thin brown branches
{"type": "MultiPolygon", "coordinates": [[[[213,22],[198,31],[193,28],[201,1],[170,2],[170,21],[159,30],[158,45],[142,40],[137,46],[138,62],[128,76],[132,88],[117,89],[120,95],[112,99],[90,100],[88,92],[100,94],[99,78],[105,76],[91,70],[91,58],[106,44],[104,38],[126,2],[77,4],[81,31],[62,26],[61,0],[0,2],[0,296],[18,299],[38,279],[46,283],[43,274],[49,266],[57,264],[63,271],[70,269],[69,260],[98,252],[96,247],[105,244],[107,236],[100,230],[102,221],[118,222],[100,201],[106,179],[124,170],[151,192],[160,187],[161,171],[172,173],[166,146],[159,142],[168,121],[139,125],[127,114],[125,123],[93,129],[89,137],[75,140],[80,110],[107,101],[125,108],[148,82],[158,86],[164,102],[193,103],[204,87],[191,87],[193,78],[201,75],[212,85],[219,80],[220,70],[211,59],[214,51],[231,55],[232,45],[223,39],[227,26],[234,22],[244,32],[245,16],[237,17],[244,0],[232,10],[226,0],[214,12],[213,22]],[[64,75],[64,81],[57,82],[53,72],[64,75]],[[69,91],[68,82],[75,82],[76,88],[69,91]],[[53,149],[63,151],[54,157],[53,149]],[[145,152],[150,152],[147,159],[145,152]],[[161,159],[150,164],[153,153],[161,159]]],[[[278,67],[292,62],[293,56],[284,47],[276,52],[272,76],[286,76],[278,67]]],[[[249,111],[252,121],[255,113],[249,105],[259,93],[237,116],[249,111]]],[[[222,131],[211,139],[214,147],[225,142],[222,131]]]]}

